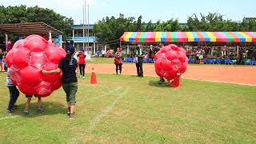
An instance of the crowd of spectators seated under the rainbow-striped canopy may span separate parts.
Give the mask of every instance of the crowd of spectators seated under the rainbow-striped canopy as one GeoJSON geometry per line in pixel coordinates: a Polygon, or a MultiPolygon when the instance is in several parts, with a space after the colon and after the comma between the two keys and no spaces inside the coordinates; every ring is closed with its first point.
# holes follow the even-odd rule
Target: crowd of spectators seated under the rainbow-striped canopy
{"type": "MultiPolygon", "coordinates": [[[[143,46],[146,52],[144,58],[154,58],[162,44],[159,46],[143,46]]],[[[195,63],[202,63],[203,59],[230,59],[238,64],[245,64],[245,61],[256,60],[256,48],[253,46],[182,46],[186,50],[187,58],[194,59],[195,63]]],[[[130,53],[127,58],[135,58],[136,46],[130,46],[130,53]]]]}

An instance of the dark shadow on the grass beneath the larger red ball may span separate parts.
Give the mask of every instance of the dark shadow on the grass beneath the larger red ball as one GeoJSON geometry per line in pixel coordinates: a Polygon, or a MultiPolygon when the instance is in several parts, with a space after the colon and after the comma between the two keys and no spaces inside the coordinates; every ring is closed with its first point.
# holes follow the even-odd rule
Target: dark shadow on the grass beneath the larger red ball
{"type": "Polygon", "coordinates": [[[26,118],[40,117],[43,115],[55,115],[66,114],[66,107],[58,102],[42,102],[43,112],[38,113],[38,102],[30,103],[30,114],[24,115],[25,103],[18,105],[18,108],[14,110],[14,115],[20,115],[26,118]]]}

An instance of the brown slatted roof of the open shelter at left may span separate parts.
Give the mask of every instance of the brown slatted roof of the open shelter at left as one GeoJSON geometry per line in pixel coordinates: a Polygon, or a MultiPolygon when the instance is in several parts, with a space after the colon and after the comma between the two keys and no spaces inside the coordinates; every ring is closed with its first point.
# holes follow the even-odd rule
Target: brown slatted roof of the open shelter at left
{"type": "Polygon", "coordinates": [[[62,34],[62,31],[47,25],[44,22],[29,22],[29,23],[14,23],[14,24],[0,24],[0,31],[12,34],[62,34]]]}

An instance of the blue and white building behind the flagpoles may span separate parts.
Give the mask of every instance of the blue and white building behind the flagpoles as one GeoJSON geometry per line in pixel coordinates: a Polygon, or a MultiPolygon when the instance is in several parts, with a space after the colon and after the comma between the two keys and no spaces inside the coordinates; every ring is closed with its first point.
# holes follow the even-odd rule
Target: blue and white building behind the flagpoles
{"type": "Polygon", "coordinates": [[[97,46],[97,38],[94,35],[94,25],[90,24],[84,27],[85,31],[89,29],[89,36],[83,37],[83,25],[74,25],[71,26],[73,30],[72,38],[74,45],[78,50],[83,50],[83,43],[85,51],[90,52],[91,54],[95,54],[96,46],[97,46]]]}

